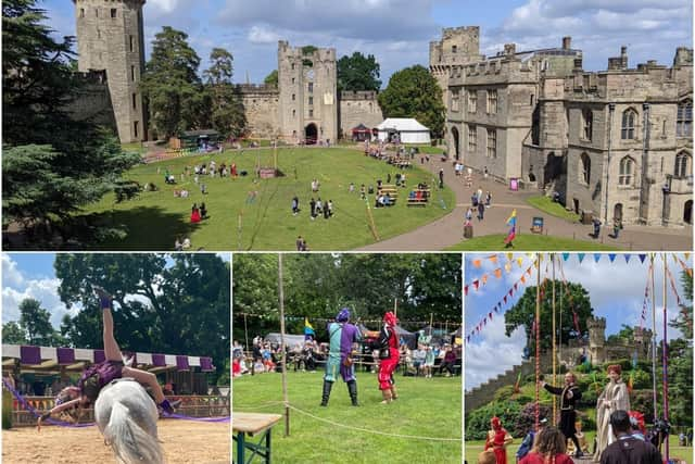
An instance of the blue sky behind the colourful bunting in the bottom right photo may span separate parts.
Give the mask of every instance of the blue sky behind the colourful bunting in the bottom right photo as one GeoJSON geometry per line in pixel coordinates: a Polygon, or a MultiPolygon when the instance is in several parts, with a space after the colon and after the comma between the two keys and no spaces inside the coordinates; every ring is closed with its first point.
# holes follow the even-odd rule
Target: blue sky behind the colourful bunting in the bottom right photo
{"type": "MultiPolygon", "coordinates": [[[[467,254],[465,260],[465,284],[470,285],[475,279],[479,279],[483,274],[491,275],[488,284],[480,286],[478,291],[469,287],[468,296],[465,298],[464,322],[465,334],[468,335],[472,328],[486,315],[498,301],[502,301],[507,291],[518,281],[525,271],[532,265],[533,259],[526,253],[517,253],[514,259],[522,258],[522,265],[515,261],[511,272],[503,271],[502,278],[497,279],[492,273],[497,267],[503,267],[507,262],[504,254],[498,254],[498,262],[493,263],[485,256],[488,254],[467,254]],[[473,266],[475,260],[481,260],[481,267],[473,266]]],[[[547,256],[547,254],[545,254],[547,256]]],[[[661,255],[655,260],[655,281],[657,302],[657,325],[662,325],[662,275],[664,262],[661,255]]],[[[690,267],[693,266],[692,256],[685,260],[683,254],[677,254],[690,267]]],[[[561,255],[559,256],[561,258],[561,255]]],[[[551,276],[552,267],[548,266],[547,258],[541,264],[541,278],[551,276]],[[547,269],[547,274],[546,274],[547,269]]],[[[668,267],[675,278],[677,288],[681,299],[684,299],[683,288],[680,283],[682,267],[668,256],[668,267]]],[[[640,325],[640,316],[644,301],[644,290],[648,273],[648,258],[644,264],[641,263],[637,254],[632,254],[627,263],[622,254],[618,254],[612,263],[608,255],[603,254],[598,262],[594,260],[594,253],[586,253],[582,263],[579,263],[576,253],[570,254],[567,261],[563,262],[565,277],[568,281],[581,284],[587,291],[594,314],[606,317],[606,336],[616,334],[622,324],[631,326],[640,325]]],[[[556,276],[559,279],[559,266],[556,265],[556,276]]],[[[504,334],[503,312],[510,309],[523,294],[527,287],[535,285],[536,273],[532,273],[527,284],[519,286],[519,291],[508,299],[508,303],[503,306],[498,314],[493,315],[492,323],[488,323],[481,334],[471,337],[470,343],[466,346],[466,389],[484,383],[486,379],[508,369],[520,363],[521,352],[526,344],[526,335],[522,328],[515,330],[510,337],[504,334]],[[494,360],[494,362],[493,362],[494,360]]],[[[670,284],[667,291],[669,318],[673,318],[679,311],[675,304],[675,297],[672,293],[670,284]]],[[[647,314],[646,327],[652,326],[650,306],[647,314]]],[[[581,322],[582,327],[584,322],[581,322]]],[[[661,334],[661,330],[659,330],[661,334]]],[[[659,339],[662,335],[659,336],[659,339]]],[[[669,338],[677,338],[678,334],[673,328],[669,328],[669,338]]]]}

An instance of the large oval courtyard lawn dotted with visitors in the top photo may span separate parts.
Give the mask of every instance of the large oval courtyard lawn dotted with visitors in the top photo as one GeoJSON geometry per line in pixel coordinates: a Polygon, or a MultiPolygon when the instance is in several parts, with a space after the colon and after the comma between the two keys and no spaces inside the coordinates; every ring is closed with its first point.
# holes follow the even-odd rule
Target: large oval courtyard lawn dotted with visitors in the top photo
{"type": "MultiPolygon", "coordinates": [[[[89,243],[91,249],[108,250],[170,250],[177,237],[189,237],[192,249],[205,250],[294,250],[298,236],[304,237],[311,250],[350,250],[375,240],[374,229],[380,239],[393,237],[430,223],[448,213],[454,205],[450,189],[437,190],[427,208],[407,208],[409,188],[399,190],[399,200],[392,208],[367,210],[359,198],[359,186],[376,187],[377,179],[392,183],[395,167],[364,156],[350,149],[280,149],[277,150],[278,167],[283,176],[257,180],[255,166],[273,166],[271,150],[227,151],[224,154],[206,154],[176,158],[159,163],[140,165],[125,177],[141,185],[154,183],[157,191],[140,192],[139,197],[114,202],[113,193],[84,211],[100,225],[121,228],[125,235],[89,243]],[[219,166],[236,163],[238,171],[250,174],[237,178],[211,178],[201,176],[207,187],[202,195],[193,176],[181,178],[187,166],[206,163],[214,159],[219,166]],[[164,184],[167,171],[176,176],[177,185],[164,184]],[[318,179],[320,190],[311,191],[312,179],[318,179]],[[355,192],[349,193],[350,183],[355,192]],[[190,191],[188,199],[175,198],[174,189],[190,191]],[[300,199],[301,213],[293,216],[291,200],[300,199]],[[309,220],[308,202],[320,197],[324,202],[333,201],[334,216],[330,220],[309,220]],[[205,202],[210,218],[190,224],[193,203],[205,202]],[[442,208],[444,204],[446,208],[442,208]]],[[[419,167],[406,170],[407,185],[433,184],[432,175],[419,167]]],[[[370,206],[374,206],[374,196],[370,206]]]]}

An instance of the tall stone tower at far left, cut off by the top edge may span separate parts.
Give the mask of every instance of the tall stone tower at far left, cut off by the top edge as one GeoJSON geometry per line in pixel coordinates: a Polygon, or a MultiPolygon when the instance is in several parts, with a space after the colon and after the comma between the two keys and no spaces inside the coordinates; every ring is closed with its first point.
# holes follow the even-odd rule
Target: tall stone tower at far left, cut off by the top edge
{"type": "Polygon", "coordinates": [[[144,71],[146,0],[73,0],[80,72],[105,71],[121,142],[147,139],[139,89],[144,71]]]}

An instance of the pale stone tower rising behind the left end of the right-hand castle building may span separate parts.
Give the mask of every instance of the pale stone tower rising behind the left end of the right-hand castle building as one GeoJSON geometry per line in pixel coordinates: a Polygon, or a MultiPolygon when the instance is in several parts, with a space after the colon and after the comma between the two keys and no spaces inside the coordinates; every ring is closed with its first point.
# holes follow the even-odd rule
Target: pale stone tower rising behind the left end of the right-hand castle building
{"type": "Polygon", "coordinates": [[[430,73],[437,79],[444,106],[448,102],[448,77],[452,68],[482,60],[480,27],[445,27],[442,39],[430,42],[430,73]]]}

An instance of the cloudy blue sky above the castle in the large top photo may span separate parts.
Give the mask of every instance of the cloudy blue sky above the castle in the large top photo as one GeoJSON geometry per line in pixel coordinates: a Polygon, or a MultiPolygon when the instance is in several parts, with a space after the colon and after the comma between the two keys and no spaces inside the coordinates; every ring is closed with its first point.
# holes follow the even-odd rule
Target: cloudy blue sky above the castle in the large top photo
{"type": "MultiPolygon", "coordinates": [[[[75,35],[74,4],[41,3],[58,35],[75,35]]],[[[260,83],[277,67],[277,40],[336,47],[338,57],[371,53],[390,75],[428,63],[428,42],[442,27],[481,27],[481,53],[504,43],[517,50],[555,47],[572,36],[585,70],[605,70],[609,57],[628,46],[631,66],[646,60],[670,64],[675,47],[692,47],[691,0],[148,0],[144,34],[169,25],[186,32],[202,58],[213,47],[235,57],[235,80],[260,83]]]]}

